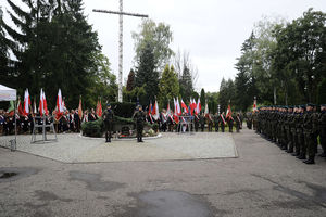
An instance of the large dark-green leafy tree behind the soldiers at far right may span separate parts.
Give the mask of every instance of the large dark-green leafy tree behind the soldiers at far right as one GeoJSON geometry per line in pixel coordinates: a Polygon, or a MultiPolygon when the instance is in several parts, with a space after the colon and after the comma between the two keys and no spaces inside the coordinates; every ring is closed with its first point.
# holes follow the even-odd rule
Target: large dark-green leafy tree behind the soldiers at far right
{"type": "Polygon", "coordinates": [[[326,72],[326,14],[309,9],[275,35],[275,67],[284,77],[294,77],[301,102],[316,102],[317,85],[326,72]]]}

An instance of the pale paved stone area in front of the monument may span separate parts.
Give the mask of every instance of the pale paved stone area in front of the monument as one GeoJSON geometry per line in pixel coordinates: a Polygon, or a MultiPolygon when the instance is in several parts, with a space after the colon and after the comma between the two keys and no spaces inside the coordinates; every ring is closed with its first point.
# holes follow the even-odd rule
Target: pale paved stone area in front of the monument
{"type": "Polygon", "coordinates": [[[143,143],[135,139],[104,140],[66,133],[59,135],[58,142],[29,143],[30,136],[18,136],[17,150],[64,163],[237,157],[231,133],[166,132],[143,143]]]}

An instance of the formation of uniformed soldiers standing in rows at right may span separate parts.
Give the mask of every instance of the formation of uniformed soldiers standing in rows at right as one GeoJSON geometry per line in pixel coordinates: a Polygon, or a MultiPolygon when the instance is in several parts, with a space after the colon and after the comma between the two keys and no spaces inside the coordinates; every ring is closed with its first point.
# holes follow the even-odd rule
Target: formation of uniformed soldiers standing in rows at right
{"type": "Polygon", "coordinates": [[[264,106],[248,114],[248,128],[264,136],[305,164],[314,164],[318,138],[326,157],[326,104],[264,106]]]}

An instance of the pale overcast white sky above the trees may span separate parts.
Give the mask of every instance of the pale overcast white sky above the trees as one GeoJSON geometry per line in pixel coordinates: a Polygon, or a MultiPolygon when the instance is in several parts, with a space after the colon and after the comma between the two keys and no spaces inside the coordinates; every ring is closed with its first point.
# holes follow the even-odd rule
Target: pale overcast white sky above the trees
{"type": "MultiPolygon", "coordinates": [[[[14,0],[14,2],[17,0],[14,0]]],[[[84,0],[85,15],[98,31],[103,53],[117,75],[118,15],[95,13],[92,9],[118,11],[120,0],[84,0]]],[[[4,0],[0,5],[8,8],[4,0]]],[[[234,79],[235,63],[243,41],[254,24],[264,16],[292,21],[309,8],[326,12],[325,0],[123,0],[125,12],[148,14],[154,22],[171,26],[171,48],[189,52],[198,68],[196,90],[218,91],[222,78],[234,79]]],[[[134,67],[133,31],[139,31],[141,18],[124,16],[124,82],[134,67]]]]}

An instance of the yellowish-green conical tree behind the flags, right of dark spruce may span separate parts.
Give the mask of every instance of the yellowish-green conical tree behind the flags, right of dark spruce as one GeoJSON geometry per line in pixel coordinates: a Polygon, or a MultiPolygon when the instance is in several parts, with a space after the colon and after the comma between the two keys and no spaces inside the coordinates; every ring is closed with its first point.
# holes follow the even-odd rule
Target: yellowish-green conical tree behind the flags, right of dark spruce
{"type": "Polygon", "coordinates": [[[174,67],[165,66],[162,78],[159,84],[159,103],[160,107],[166,107],[167,102],[179,95],[179,82],[174,67]]]}

